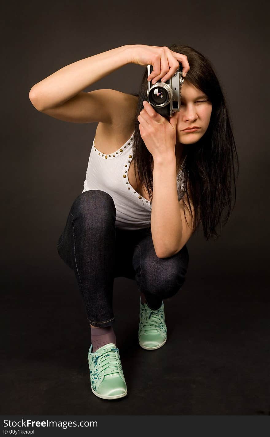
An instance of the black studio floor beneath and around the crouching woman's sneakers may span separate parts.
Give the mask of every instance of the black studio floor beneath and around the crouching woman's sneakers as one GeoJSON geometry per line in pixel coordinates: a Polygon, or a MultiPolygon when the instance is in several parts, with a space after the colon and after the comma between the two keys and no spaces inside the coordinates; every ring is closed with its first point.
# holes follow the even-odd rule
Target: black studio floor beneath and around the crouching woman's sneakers
{"type": "Polygon", "coordinates": [[[187,275],[164,301],[167,341],[138,344],[139,293],[114,280],[114,332],[128,394],[93,395],[90,326],[73,271],[6,271],[1,414],[269,415],[269,281],[187,275]]]}

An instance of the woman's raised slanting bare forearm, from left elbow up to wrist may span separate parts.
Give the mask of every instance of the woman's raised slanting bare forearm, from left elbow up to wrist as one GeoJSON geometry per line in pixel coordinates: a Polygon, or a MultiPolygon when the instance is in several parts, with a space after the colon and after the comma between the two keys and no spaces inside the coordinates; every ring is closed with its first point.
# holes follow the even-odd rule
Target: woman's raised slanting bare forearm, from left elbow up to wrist
{"type": "Polygon", "coordinates": [[[73,62],[36,83],[30,90],[29,98],[35,101],[39,110],[53,108],[128,64],[129,56],[130,46],[123,45],[73,62]]]}

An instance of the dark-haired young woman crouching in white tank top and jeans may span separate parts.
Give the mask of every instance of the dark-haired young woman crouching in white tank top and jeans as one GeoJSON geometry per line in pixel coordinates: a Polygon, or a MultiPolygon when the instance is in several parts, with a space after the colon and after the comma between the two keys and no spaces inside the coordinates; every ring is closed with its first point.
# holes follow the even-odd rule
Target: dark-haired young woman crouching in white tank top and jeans
{"type": "Polygon", "coordinates": [[[34,85],[29,97],[59,120],[98,123],[84,189],[57,249],[76,275],[90,323],[92,391],[120,398],[127,386],[112,327],[114,278],[138,285],[140,346],[162,347],[163,299],[185,281],[188,239],[200,223],[205,238],[216,239],[230,215],[238,156],[225,98],[208,59],[183,45],[125,45],[82,59],[34,85]],[[153,66],[139,94],[82,91],[128,63],[153,66]],[[165,118],[148,103],[148,81],[164,82],[179,67],[180,111],[165,118]]]}

